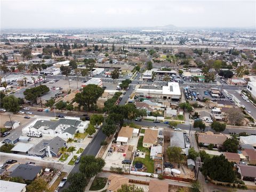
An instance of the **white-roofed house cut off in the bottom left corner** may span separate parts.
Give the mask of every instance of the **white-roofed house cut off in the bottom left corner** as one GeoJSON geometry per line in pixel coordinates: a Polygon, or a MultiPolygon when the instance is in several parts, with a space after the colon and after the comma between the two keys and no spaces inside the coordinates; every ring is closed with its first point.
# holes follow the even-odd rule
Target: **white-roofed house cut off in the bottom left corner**
{"type": "Polygon", "coordinates": [[[0,191],[1,192],[25,192],[26,185],[27,184],[25,183],[0,180],[0,191]]]}

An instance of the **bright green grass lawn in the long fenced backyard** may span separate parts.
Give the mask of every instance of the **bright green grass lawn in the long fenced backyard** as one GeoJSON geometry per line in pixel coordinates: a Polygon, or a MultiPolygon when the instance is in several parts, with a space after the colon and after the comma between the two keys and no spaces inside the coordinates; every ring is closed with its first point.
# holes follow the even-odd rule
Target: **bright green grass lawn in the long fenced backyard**
{"type": "Polygon", "coordinates": [[[144,166],[147,167],[148,173],[154,173],[154,160],[150,158],[150,150],[146,147],[143,147],[143,138],[143,136],[139,138],[137,149],[146,152],[146,156],[145,158],[135,157],[133,160],[133,165],[136,162],[141,162],[144,166]]]}

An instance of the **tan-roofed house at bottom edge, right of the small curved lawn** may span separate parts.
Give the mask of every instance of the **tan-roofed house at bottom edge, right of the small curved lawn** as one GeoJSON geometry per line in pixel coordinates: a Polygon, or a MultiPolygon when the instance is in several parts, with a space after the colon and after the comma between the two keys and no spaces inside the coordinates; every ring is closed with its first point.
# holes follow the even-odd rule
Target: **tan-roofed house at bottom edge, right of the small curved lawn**
{"type": "Polygon", "coordinates": [[[114,192],[121,189],[122,185],[128,185],[129,179],[121,175],[111,174],[108,177],[108,192],[114,192]]]}

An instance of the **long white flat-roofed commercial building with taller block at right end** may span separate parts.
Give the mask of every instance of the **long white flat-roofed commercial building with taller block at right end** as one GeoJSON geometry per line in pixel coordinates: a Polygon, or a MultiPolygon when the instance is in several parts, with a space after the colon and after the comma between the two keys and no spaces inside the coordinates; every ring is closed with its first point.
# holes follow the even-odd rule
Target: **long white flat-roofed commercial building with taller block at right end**
{"type": "Polygon", "coordinates": [[[135,90],[135,93],[149,98],[159,98],[164,100],[179,100],[181,97],[180,86],[177,82],[169,82],[162,89],[143,89],[135,90]]]}

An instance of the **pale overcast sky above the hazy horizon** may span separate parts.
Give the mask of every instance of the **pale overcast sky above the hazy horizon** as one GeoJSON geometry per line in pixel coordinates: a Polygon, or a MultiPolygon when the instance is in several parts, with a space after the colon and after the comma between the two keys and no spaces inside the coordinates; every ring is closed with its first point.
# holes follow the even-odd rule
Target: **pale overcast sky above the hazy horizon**
{"type": "Polygon", "coordinates": [[[1,28],[255,28],[255,2],[1,0],[1,28]]]}

